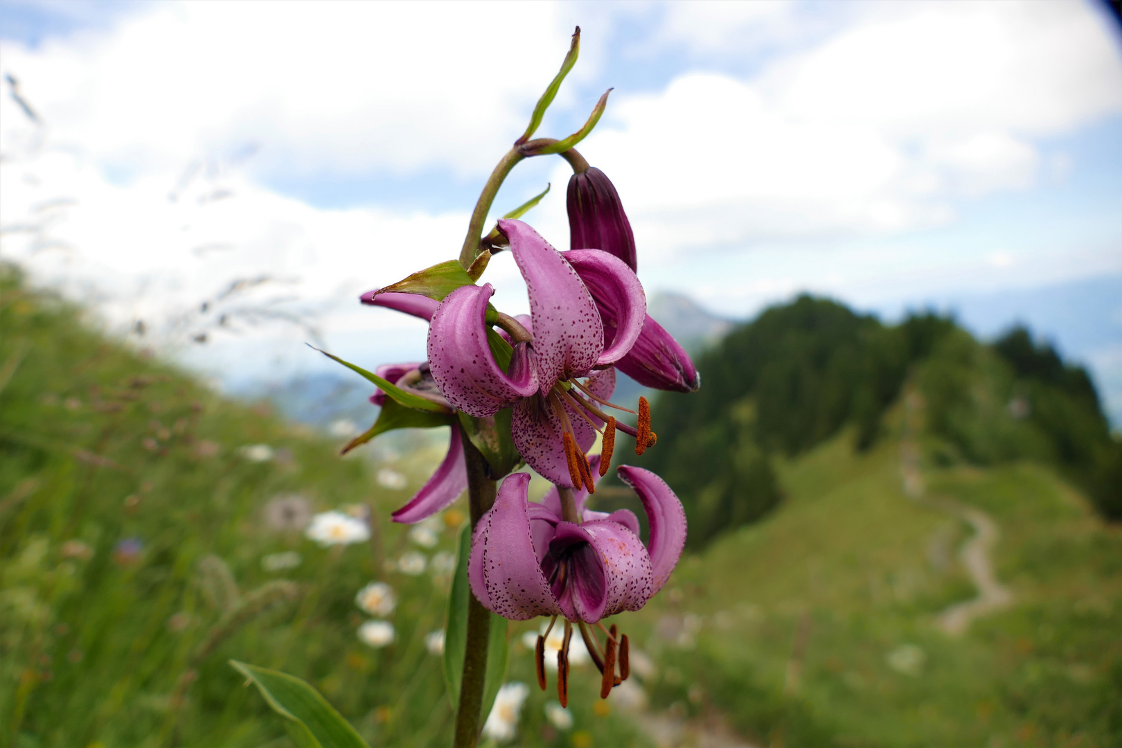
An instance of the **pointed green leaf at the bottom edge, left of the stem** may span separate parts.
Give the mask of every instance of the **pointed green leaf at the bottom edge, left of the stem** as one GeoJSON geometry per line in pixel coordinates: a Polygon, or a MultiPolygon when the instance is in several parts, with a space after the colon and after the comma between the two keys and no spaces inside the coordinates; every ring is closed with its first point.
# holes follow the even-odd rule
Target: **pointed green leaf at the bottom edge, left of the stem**
{"type": "Polygon", "coordinates": [[[327,699],[298,677],[231,659],[239,673],[252,682],[265,701],[283,717],[289,735],[311,748],[369,748],[361,736],[328,703],[327,699]]]}

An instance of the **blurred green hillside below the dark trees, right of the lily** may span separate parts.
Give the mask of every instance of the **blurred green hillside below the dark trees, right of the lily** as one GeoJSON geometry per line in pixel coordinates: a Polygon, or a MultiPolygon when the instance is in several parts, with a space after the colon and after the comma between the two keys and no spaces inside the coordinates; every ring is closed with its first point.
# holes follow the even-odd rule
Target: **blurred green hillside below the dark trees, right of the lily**
{"type": "Polygon", "coordinates": [[[955,557],[971,530],[904,496],[894,415],[868,453],[846,434],[782,465],[785,504],[690,558],[642,613],[675,664],[657,701],[717,707],[771,745],[1119,745],[1118,528],[1047,469],[928,471],[929,495],[996,520],[995,566],[1017,594],[948,637],[934,619],[974,595],[955,557]]]}

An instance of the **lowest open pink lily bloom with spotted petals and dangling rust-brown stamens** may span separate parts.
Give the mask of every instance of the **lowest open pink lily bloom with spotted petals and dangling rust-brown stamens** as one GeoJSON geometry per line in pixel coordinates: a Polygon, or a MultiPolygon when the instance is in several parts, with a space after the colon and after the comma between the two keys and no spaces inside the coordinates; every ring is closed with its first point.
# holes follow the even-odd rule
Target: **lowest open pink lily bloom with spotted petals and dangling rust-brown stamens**
{"type": "MultiPolygon", "coordinates": [[[[594,455],[592,467],[598,462],[599,455],[594,455]]],[[[643,502],[650,525],[646,545],[640,541],[638,519],[632,511],[609,515],[587,509],[587,490],[554,488],[541,504],[530,502],[527,473],[503,481],[495,506],[479,520],[471,539],[468,580],[485,608],[513,620],[552,616],[535,650],[542,689],[545,637],[557,618],[564,618],[558,652],[562,705],[568,703],[573,624],[603,675],[600,696],[607,698],[629,673],[628,644],[616,626],[605,629],[600,619],[642,608],[665,584],[686,544],[686,511],[670,487],[642,468],[620,465],[617,474],[643,502]],[[590,625],[606,635],[603,649],[590,625]]]]}

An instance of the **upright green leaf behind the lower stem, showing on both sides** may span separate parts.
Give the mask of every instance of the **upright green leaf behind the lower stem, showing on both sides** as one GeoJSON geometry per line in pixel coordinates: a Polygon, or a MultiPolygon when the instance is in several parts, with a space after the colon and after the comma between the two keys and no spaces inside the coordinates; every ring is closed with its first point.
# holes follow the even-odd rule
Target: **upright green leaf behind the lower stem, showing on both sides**
{"type": "MultiPolygon", "coordinates": [[[[452,709],[460,704],[460,683],[463,678],[463,653],[468,641],[468,555],[471,552],[471,526],[466,525],[460,533],[460,557],[452,578],[452,591],[448,595],[448,627],[444,629],[444,683],[452,709]]],[[[484,701],[479,710],[482,722],[495,705],[495,696],[506,680],[507,656],[511,652],[507,640],[507,620],[490,615],[490,634],[487,638],[487,674],[484,677],[484,701]]]]}

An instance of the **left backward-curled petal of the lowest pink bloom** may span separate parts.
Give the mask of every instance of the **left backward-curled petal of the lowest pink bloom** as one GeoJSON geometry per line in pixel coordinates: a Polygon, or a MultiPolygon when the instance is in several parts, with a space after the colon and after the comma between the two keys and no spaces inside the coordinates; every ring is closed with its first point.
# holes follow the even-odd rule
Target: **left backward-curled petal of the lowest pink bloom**
{"type": "Polygon", "coordinates": [[[528,473],[513,473],[503,481],[495,506],[476,526],[468,556],[471,592],[485,608],[511,620],[561,612],[534,552],[528,484],[528,473]]]}

